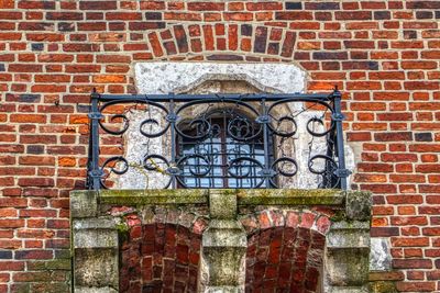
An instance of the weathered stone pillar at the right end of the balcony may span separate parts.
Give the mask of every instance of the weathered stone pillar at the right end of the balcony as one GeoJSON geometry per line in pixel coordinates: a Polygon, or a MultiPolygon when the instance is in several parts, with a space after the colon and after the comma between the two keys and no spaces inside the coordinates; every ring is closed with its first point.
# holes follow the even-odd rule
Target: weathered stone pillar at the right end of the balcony
{"type": "Polygon", "coordinates": [[[326,292],[367,293],[371,194],[346,192],[344,213],[327,235],[326,292]]]}

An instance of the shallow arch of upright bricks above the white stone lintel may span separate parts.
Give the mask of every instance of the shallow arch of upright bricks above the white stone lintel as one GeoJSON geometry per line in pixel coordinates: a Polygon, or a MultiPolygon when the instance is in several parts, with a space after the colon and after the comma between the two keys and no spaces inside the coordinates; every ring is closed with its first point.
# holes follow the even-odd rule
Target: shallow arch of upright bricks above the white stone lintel
{"type": "MultiPolygon", "coordinates": [[[[230,18],[234,20],[233,15],[230,18]]],[[[148,33],[147,42],[155,59],[204,53],[208,60],[218,60],[219,54],[228,52],[292,58],[296,32],[263,24],[176,23],[148,33]]],[[[221,56],[223,60],[243,60],[240,55],[221,56]]]]}

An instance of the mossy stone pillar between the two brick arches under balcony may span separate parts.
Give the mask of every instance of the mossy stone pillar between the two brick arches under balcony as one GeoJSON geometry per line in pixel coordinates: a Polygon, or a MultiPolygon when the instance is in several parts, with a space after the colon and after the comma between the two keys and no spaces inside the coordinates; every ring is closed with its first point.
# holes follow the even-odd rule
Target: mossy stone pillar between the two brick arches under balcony
{"type": "Polygon", "coordinates": [[[237,221],[235,193],[210,190],[209,211],[211,221],[202,235],[205,292],[244,292],[248,238],[237,221]]]}

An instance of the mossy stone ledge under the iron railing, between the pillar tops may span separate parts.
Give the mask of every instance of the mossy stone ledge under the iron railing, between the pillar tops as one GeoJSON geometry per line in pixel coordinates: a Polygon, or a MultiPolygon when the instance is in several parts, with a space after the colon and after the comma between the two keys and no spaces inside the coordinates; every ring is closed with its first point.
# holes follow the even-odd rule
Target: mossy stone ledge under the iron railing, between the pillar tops
{"type": "MultiPolygon", "coordinates": [[[[222,189],[224,194],[237,194],[238,205],[343,205],[345,191],[329,189],[222,189]]],[[[75,191],[80,192],[80,191],[75,191]]],[[[82,191],[84,192],[84,191],[82,191]]],[[[208,204],[209,189],[102,190],[100,204],[208,204]]]]}

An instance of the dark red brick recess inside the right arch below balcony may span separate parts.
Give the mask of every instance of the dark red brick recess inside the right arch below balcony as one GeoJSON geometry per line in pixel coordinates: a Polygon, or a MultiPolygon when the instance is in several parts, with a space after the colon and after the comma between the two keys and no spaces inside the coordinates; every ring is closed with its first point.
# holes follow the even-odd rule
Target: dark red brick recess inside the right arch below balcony
{"type": "Polygon", "coordinates": [[[306,229],[274,227],[248,238],[246,292],[320,292],[326,238],[306,229]]]}

